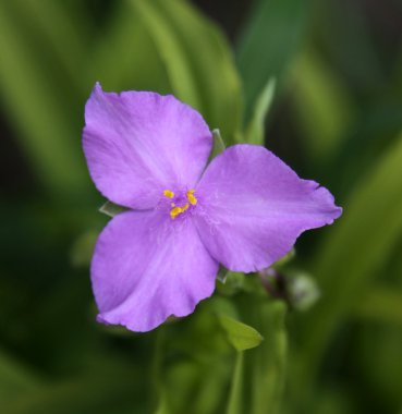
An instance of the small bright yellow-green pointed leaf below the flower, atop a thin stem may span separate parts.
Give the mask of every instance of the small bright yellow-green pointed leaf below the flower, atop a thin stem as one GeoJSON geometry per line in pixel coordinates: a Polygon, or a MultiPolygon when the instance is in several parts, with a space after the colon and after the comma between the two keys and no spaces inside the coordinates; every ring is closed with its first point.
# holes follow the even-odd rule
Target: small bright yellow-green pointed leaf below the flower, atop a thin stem
{"type": "Polygon", "coordinates": [[[218,316],[227,332],[229,342],[237,351],[245,351],[258,346],[264,338],[257,330],[226,315],[218,316]]]}

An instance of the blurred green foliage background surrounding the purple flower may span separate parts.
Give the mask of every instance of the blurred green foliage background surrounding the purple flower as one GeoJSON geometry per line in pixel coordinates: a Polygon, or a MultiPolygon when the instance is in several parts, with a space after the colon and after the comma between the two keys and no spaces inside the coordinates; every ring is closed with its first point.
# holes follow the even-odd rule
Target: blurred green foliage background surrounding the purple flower
{"type": "Polygon", "coordinates": [[[400,0],[0,0],[0,94],[2,414],[401,413],[400,0]],[[330,188],[344,215],[289,265],[315,306],[283,321],[234,289],[146,334],[94,321],[96,81],[173,93],[330,188]],[[236,353],[216,307],[263,344],[236,353]]]}

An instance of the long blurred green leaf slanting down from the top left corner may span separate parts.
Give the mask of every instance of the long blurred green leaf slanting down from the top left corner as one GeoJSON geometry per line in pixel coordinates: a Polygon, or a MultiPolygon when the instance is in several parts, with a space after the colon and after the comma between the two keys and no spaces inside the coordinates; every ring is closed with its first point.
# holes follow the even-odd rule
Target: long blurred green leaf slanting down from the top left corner
{"type": "Polygon", "coordinates": [[[23,33],[7,2],[0,2],[2,105],[49,192],[58,199],[87,193],[89,180],[82,159],[81,129],[72,123],[53,76],[23,33]]]}

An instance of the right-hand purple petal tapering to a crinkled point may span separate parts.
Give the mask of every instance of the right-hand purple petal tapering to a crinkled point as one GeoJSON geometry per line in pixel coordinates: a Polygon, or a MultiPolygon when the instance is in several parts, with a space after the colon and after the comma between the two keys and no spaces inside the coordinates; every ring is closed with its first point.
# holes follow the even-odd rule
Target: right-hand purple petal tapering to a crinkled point
{"type": "Polygon", "coordinates": [[[196,194],[199,235],[211,256],[234,271],[270,266],[303,231],[330,224],[342,212],[326,188],[253,145],[215,158],[196,194]]]}

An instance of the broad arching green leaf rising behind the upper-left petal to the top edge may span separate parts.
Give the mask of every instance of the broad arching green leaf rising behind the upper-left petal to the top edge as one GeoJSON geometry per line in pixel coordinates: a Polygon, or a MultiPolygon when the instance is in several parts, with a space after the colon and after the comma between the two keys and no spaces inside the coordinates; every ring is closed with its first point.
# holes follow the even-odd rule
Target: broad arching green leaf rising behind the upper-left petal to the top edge
{"type": "Polygon", "coordinates": [[[240,135],[243,121],[241,80],[224,34],[183,0],[157,0],[179,35],[195,73],[203,114],[229,143],[240,135]]]}

